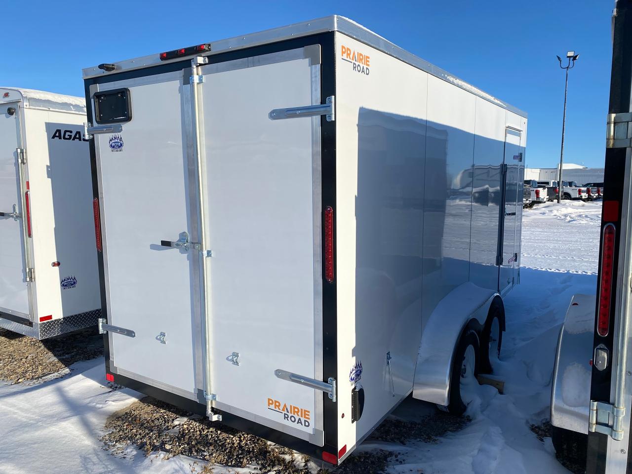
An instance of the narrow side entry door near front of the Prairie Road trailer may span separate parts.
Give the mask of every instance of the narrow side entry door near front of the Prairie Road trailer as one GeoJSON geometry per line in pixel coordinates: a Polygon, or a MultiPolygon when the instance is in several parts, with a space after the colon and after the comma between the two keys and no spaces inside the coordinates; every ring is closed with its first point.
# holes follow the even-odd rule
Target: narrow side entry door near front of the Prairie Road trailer
{"type": "Polygon", "coordinates": [[[520,252],[520,239],[516,233],[518,206],[522,206],[522,190],[520,181],[520,135],[521,132],[507,128],[505,130],[505,154],[504,154],[504,193],[502,199],[501,265],[499,270],[499,291],[511,288],[518,277],[518,252],[520,252]]]}

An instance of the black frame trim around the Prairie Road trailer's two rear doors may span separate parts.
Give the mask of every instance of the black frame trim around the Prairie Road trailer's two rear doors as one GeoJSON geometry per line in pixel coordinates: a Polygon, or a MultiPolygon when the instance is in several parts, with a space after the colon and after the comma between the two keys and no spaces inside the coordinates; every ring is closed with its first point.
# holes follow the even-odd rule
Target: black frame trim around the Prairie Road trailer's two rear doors
{"type": "MultiPolygon", "coordinates": [[[[226,61],[233,61],[234,59],[250,58],[253,56],[262,56],[263,54],[271,54],[281,51],[289,51],[291,49],[298,49],[313,44],[320,44],[321,47],[321,67],[320,67],[320,90],[321,98],[329,97],[336,94],[336,67],[335,67],[335,32],[318,33],[312,36],[300,37],[296,39],[283,40],[280,42],[274,42],[270,44],[264,44],[260,46],[254,46],[247,49],[240,49],[237,51],[227,51],[221,54],[207,56],[209,59],[208,64],[224,63],[226,61]]],[[[183,58],[183,61],[176,63],[157,64],[150,68],[143,68],[132,71],[124,71],[121,73],[115,73],[104,76],[97,76],[84,80],[85,85],[85,98],[88,120],[93,116],[92,109],[92,97],[90,97],[90,86],[95,84],[104,84],[109,82],[128,80],[141,78],[146,76],[154,76],[163,73],[169,73],[173,71],[183,71],[190,67],[191,58],[183,58]]],[[[336,125],[334,122],[327,122],[327,120],[321,118],[321,163],[322,163],[322,209],[329,205],[334,209],[334,242],[336,238],[336,125]]],[[[92,193],[94,198],[99,198],[99,181],[97,173],[96,162],[96,150],[94,138],[90,140],[90,168],[92,170],[92,193]]],[[[99,203],[102,205],[101,203],[99,203]]],[[[323,227],[324,232],[324,227],[323,227]]],[[[322,235],[322,241],[324,243],[324,234],[322,235]]],[[[104,242],[103,245],[106,243],[104,242]]],[[[107,301],[106,301],[106,282],[105,282],[105,269],[103,261],[103,252],[97,252],[98,264],[99,264],[99,281],[102,301],[102,313],[107,315],[107,301]]],[[[324,262],[323,262],[324,265],[324,262]]],[[[336,250],[334,245],[334,272],[336,269],[336,250]]],[[[336,279],[334,277],[333,283],[328,283],[325,278],[324,267],[322,269],[323,274],[323,295],[322,295],[322,337],[323,337],[323,375],[324,379],[329,377],[337,377],[337,300],[336,300],[336,279]]],[[[104,334],[104,356],[106,362],[106,372],[111,373],[110,370],[110,356],[111,351],[109,347],[109,337],[104,334]]],[[[167,367],[165,367],[166,369],[167,367]]],[[[178,406],[183,410],[192,411],[193,413],[200,413],[206,415],[206,405],[195,402],[193,400],[172,394],[161,389],[157,389],[154,386],[145,384],[135,379],[123,377],[122,375],[114,374],[114,380],[116,383],[125,387],[129,387],[136,391],[142,392],[146,395],[152,396],[156,399],[171,403],[174,406],[178,406]]],[[[309,454],[315,458],[322,459],[322,453],[327,453],[337,456],[337,402],[334,403],[329,399],[327,394],[323,393],[323,430],[325,444],[321,448],[308,441],[303,441],[293,435],[289,435],[272,428],[265,427],[260,423],[255,423],[245,418],[241,418],[236,415],[231,415],[221,410],[217,410],[222,414],[222,424],[234,427],[246,433],[254,434],[270,441],[277,442],[283,446],[296,449],[301,453],[309,454]]]]}

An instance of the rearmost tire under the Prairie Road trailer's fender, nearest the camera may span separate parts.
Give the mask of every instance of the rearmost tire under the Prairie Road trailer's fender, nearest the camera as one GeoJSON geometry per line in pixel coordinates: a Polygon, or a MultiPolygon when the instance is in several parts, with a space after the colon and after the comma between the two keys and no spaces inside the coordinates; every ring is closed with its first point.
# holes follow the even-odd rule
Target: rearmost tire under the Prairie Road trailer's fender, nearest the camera
{"type": "Polygon", "coordinates": [[[450,397],[447,411],[461,416],[470,403],[463,399],[462,389],[469,384],[478,384],[476,379],[479,366],[478,336],[473,329],[466,329],[454,351],[452,374],[450,377],[450,397]]]}

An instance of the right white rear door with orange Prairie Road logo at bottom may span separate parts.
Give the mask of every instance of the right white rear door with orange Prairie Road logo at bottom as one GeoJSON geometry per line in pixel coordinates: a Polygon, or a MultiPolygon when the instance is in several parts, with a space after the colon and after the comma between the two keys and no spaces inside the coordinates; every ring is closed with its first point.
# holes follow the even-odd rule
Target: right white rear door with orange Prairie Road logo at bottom
{"type": "Polygon", "coordinates": [[[322,380],[321,117],[271,113],[321,104],[319,58],[202,66],[201,95],[214,406],[322,446],[322,392],[276,376],[322,380]]]}

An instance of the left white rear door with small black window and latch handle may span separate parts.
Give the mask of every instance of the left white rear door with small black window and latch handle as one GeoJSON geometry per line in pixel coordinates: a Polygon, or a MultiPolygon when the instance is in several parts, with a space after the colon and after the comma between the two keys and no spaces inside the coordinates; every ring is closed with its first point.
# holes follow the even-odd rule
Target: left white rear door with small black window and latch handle
{"type": "Polygon", "coordinates": [[[107,83],[90,94],[104,114],[93,124],[109,130],[95,135],[107,322],[135,332],[109,332],[110,370],[194,398],[200,252],[185,245],[197,241],[189,76],[107,83]]]}

